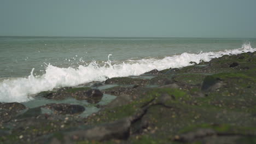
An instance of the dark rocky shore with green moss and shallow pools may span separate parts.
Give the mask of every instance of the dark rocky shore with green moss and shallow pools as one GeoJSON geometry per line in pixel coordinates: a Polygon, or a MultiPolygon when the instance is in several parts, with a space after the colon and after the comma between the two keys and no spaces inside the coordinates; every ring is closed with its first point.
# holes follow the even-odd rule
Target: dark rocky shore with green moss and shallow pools
{"type": "Polygon", "coordinates": [[[0,103],[0,143],[256,143],[256,52],[191,64],[0,103]]]}

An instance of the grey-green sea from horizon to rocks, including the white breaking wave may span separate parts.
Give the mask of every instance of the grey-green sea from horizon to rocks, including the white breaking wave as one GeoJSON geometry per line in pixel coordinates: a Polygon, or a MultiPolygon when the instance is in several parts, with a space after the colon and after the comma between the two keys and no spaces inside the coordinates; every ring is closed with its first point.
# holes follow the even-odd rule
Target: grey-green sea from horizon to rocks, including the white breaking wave
{"type": "Polygon", "coordinates": [[[256,39],[0,37],[0,102],[256,51],[256,39]]]}

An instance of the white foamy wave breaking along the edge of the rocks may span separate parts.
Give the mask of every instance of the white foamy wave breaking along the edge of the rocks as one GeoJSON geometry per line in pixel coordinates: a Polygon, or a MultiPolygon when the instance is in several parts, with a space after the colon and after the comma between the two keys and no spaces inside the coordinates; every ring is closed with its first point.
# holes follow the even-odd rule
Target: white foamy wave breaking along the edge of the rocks
{"type": "Polygon", "coordinates": [[[33,99],[28,95],[51,91],[53,88],[76,86],[91,81],[104,81],[107,77],[140,75],[152,69],[181,68],[192,65],[189,63],[191,61],[196,63],[200,61],[208,62],[212,58],[223,55],[237,55],[238,53],[253,51],[256,51],[256,49],[253,49],[250,44],[244,44],[241,49],[235,50],[201,52],[198,54],[184,52],[181,55],[162,59],[130,60],[117,64],[111,64],[108,59],[103,66],[94,61],[87,66],[80,65],[77,69],[71,67],[59,68],[49,64],[45,69],[46,73],[42,76],[35,77],[33,75],[34,69],[32,69],[31,75],[26,78],[8,79],[0,82],[0,101],[23,102],[33,99]]]}

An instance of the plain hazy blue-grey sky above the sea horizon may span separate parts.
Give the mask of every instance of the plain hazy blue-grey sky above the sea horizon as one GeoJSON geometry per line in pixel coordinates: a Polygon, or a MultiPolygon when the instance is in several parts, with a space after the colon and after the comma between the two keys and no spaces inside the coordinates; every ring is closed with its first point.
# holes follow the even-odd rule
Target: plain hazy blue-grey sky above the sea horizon
{"type": "Polygon", "coordinates": [[[255,7],[255,0],[0,0],[0,35],[256,38],[255,7]]]}

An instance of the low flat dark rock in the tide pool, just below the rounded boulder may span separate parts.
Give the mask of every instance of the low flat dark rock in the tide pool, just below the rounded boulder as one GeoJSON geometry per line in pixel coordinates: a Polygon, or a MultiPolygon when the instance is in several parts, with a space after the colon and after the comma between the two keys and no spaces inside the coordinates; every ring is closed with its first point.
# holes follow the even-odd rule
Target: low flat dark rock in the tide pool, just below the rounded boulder
{"type": "Polygon", "coordinates": [[[45,106],[42,106],[47,109],[52,109],[57,113],[63,114],[63,115],[73,115],[77,113],[82,113],[85,108],[82,105],[71,105],[71,104],[46,104],[45,106]]]}

